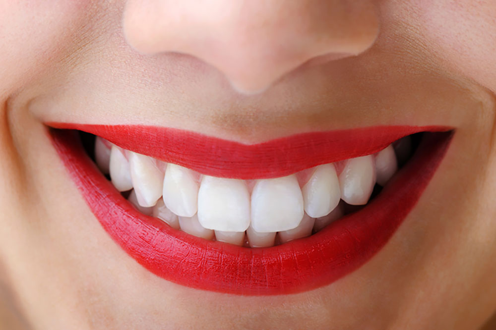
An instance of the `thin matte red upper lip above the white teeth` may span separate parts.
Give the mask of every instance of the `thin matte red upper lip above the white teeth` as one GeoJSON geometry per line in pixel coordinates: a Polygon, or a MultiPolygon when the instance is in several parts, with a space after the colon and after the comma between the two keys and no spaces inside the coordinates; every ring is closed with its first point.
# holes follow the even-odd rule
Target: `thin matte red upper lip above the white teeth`
{"type": "Polygon", "coordinates": [[[158,160],[199,173],[238,179],[280,177],[316,165],[373,154],[391,142],[422,131],[447,131],[447,126],[372,126],[308,132],[258,144],[243,144],[175,128],[145,125],[47,123],[77,129],[158,160]]]}

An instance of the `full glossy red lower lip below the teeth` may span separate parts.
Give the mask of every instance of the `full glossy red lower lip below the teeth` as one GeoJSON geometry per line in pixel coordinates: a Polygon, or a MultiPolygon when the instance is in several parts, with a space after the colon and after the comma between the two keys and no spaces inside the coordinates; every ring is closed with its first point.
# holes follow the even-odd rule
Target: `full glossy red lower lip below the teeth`
{"type": "Polygon", "coordinates": [[[50,136],[95,217],[147,270],[197,289],[274,295],[327,285],[370,260],[419,200],[452,133],[426,133],[414,157],[362,210],[307,238],[256,249],[204,240],[140,214],[84,153],[76,132],[51,129],[50,136]]]}

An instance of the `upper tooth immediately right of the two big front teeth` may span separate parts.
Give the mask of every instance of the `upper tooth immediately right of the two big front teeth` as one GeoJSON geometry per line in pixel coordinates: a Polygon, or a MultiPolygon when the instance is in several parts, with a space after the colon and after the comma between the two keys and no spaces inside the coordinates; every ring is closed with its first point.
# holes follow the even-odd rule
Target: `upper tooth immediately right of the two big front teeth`
{"type": "Polygon", "coordinates": [[[329,214],[341,199],[339,180],[333,164],[319,165],[302,188],[305,212],[312,217],[329,214]]]}

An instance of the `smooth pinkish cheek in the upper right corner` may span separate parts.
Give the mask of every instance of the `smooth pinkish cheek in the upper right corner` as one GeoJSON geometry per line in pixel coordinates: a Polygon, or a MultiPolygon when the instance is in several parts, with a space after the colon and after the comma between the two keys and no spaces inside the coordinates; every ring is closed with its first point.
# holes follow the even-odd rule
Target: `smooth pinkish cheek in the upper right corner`
{"type": "Polygon", "coordinates": [[[419,31],[453,69],[496,92],[496,1],[423,0],[419,31]]]}

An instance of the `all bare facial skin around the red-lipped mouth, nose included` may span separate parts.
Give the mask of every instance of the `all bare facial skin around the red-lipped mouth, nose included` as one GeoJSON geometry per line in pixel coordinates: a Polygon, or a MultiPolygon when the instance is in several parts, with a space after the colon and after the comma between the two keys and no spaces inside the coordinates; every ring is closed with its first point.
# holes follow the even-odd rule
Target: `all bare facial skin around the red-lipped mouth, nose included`
{"type": "Polygon", "coordinates": [[[5,329],[487,323],[496,310],[496,3],[177,2],[0,0],[5,329]],[[70,181],[44,121],[154,124],[246,143],[384,124],[457,131],[370,262],[309,292],[243,297],[167,282],[126,255],[70,181]]]}

